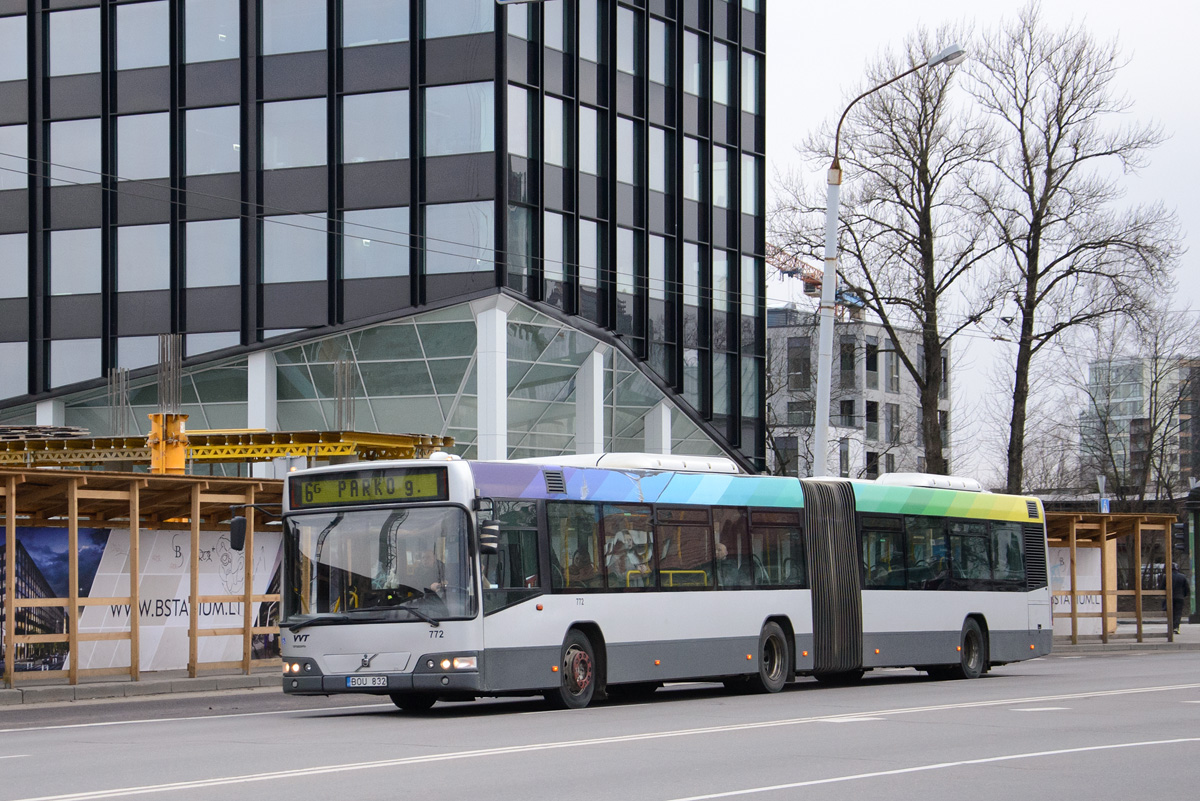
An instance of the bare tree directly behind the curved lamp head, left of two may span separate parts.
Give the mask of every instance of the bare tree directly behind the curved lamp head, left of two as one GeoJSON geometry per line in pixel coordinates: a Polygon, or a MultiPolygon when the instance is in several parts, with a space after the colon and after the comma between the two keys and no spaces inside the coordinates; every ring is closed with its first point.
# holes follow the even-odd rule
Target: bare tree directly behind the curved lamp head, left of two
{"type": "MultiPolygon", "coordinates": [[[[884,53],[868,70],[876,85],[925,60],[961,29],[936,35],[918,29],[899,54],[884,53]]],[[[943,353],[965,327],[992,307],[992,295],[972,287],[992,243],[978,197],[968,186],[992,152],[988,125],[954,102],[954,70],[922,70],[853,107],[842,126],[840,161],[846,181],[841,201],[839,272],[862,303],[880,319],[896,355],[917,384],[930,472],[948,471],[938,416],[943,353]],[[971,300],[967,300],[971,299],[971,300]],[[904,348],[898,329],[920,332],[917,348],[904,348]]],[[[834,135],[824,126],[803,152],[828,163],[834,135]]],[[[770,239],[781,251],[821,258],[824,200],[815,187],[792,177],[773,210],[770,239]]]]}

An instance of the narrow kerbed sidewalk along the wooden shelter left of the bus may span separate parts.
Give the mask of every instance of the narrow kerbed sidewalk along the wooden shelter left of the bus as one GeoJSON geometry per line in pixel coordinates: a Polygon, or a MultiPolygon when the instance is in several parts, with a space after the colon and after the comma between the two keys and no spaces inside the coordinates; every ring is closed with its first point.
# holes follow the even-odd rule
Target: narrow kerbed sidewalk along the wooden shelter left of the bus
{"type": "Polygon", "coordinates": [[[281,674],[277,670],[256,670],[251,675],[242,673],[210,673],[191,679],[186,670],[163,670],[148,674],[140,681],[126,680],[83,680],[78,685],[47,683],[29,679],[28,683],[17,682],[14,689],[0,689],[0,709],[18,704],[52,704],[79,700],[109,700],[134,698],[142,695],[164,695],[168,693],[203,693],[222,689],[258,689],[259,687],[281,686],[281,674]]]}

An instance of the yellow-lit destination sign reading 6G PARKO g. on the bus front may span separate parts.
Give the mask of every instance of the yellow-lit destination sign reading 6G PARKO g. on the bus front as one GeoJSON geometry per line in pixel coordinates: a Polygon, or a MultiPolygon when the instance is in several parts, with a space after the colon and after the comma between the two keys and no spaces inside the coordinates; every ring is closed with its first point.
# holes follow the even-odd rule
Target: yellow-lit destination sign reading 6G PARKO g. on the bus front
{"type": "Polygon", "coordinates": [[[442,468],[394,468],[289,476],[292,508],[349,504],[420,502],[445,500],[446,472],[442,468]]]}

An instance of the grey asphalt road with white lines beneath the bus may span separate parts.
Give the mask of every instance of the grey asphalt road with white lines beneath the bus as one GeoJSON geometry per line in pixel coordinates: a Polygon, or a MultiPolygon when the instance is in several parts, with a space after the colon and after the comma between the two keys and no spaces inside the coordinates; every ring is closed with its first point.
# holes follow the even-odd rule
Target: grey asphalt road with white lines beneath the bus
{"type": "Polygon", "coordinates": [[[548,711],[275,691],[0,711],[0,800],[1193,797],[1200,652],[548,711]]]}

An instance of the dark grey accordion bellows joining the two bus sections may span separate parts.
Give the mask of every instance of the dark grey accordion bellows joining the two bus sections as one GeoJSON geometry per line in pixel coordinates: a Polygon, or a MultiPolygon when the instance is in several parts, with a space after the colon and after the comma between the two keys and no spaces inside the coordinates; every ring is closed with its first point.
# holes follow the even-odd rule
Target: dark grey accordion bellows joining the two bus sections
{"type": "Polygon", "coordinates": [[[854,490],[845,481],[802,480],[804,538],[812,588],[812,669],[863,667],[863,588],[854,490]]]}

